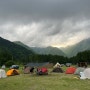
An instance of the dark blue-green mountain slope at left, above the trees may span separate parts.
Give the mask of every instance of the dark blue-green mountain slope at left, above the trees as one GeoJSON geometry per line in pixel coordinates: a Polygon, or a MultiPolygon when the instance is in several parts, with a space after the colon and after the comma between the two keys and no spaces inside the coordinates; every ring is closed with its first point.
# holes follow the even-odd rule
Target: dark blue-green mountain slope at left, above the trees
{"type": "MultiPolygon", "coordinates": [[[[0,50],[10,53],[14,59],[25,59],[30,54],[34,54],[33,51],[26,49],[20,45],[17,45],[9,40],[0,37],[0,50]]],[[[1,52],[2,53],[2,52],[1,52]]]]}

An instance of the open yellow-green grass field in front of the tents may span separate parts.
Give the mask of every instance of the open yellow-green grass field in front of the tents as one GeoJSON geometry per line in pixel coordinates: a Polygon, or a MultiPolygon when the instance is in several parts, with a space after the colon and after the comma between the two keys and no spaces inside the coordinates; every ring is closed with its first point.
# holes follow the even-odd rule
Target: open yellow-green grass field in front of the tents
{"type": "Polygon", "coordinates": [[[45,76],[20,74],[0,79],[0,90],[90,90],[90,80],[76,75],[49,73],[45,76]]]}

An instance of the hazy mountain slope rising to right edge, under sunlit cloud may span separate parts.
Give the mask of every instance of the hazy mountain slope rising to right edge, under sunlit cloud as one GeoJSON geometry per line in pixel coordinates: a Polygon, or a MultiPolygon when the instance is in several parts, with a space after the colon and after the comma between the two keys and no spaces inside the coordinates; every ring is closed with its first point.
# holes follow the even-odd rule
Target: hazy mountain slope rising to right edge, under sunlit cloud
{"type": "Polygon", "coordinates": [[[90,50],[90,38],[80,41],[79,43],[68,46],[66,48],[61,48],[61,50],[68,56],[75,56],[78,52],[85,50],[90,50]]]}

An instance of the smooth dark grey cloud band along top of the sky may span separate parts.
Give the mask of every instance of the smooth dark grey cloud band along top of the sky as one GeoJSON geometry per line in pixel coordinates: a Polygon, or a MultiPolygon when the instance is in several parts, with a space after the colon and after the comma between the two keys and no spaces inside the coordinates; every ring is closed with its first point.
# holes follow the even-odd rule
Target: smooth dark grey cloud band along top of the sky
{"type": "Polygon", "coordinates": [[[2,0],[0,15],[11,20],[85,17],[90,15],[89,3],[90,0],[2,0]]]}

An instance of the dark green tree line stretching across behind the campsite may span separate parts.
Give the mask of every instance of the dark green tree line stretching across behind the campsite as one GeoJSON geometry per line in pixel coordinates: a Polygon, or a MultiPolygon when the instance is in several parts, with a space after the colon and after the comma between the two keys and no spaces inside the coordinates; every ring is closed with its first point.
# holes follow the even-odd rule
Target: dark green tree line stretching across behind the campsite
{"type": "Polygon", "coordinates": [[[0,65],[11,65],[11,64],[27,64],[28,62],[52,62],[52,63],[72,63],[77,64],[78,62],[88,62],[90,63],[90,50],[79,52],[73,57],[64,57],[59,55],[39,55],[39,54],[29,54],[21,55],[19,58],[13,56],[7,50],[0,49],[0,65]]]}

